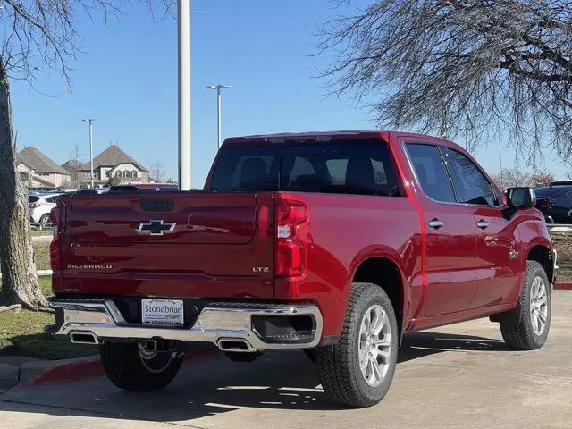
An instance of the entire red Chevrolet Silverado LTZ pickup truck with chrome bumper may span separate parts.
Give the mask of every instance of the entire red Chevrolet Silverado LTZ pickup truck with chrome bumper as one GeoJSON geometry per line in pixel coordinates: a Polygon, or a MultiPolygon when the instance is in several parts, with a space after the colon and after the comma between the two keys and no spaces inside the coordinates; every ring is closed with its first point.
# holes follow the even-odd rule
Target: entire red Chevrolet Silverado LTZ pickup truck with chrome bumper
{"type": "Polygon", "coordinates": [[[444,139],[227,139],[204,190],[59,202],[53,332],[98,344],[128,391],[166,386],[197,341],[305,349],[332,400],[368,407],[406,332],[488,316],[510,347],[543,345],[556,253],[534,200],[444,139]]]}

